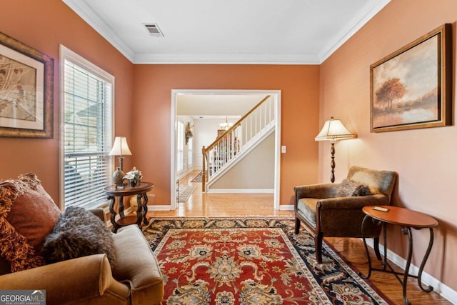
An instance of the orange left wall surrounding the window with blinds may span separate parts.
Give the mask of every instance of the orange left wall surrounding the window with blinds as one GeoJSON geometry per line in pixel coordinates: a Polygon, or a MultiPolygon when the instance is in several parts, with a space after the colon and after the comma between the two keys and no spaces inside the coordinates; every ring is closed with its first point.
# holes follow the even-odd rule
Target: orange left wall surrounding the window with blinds
{"type": "MultiPolygon", "coordinates": [[[[35,172],[59,202],[59,44],[116,78],[116,134],[131,136],[133,64],[60,0],[2,0],[0,31],[54,58],[54,138],[0,137],[0,179],[35,172]]],[[[132,147],[135,149],[135,147],[132,147]]],[[[131,158],[126,157],[126,166],[131,158]]]]}

